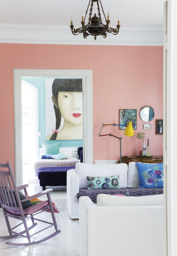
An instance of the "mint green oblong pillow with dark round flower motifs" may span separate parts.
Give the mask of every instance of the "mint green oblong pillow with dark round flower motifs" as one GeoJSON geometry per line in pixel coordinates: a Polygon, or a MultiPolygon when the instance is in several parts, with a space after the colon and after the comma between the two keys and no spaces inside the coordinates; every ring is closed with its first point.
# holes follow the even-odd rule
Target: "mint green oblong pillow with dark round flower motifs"
{"type": "Polygon", "coordinates": [[[119,189],[119,174],[105,177],[87,177],[88,189],[119,189]]]}

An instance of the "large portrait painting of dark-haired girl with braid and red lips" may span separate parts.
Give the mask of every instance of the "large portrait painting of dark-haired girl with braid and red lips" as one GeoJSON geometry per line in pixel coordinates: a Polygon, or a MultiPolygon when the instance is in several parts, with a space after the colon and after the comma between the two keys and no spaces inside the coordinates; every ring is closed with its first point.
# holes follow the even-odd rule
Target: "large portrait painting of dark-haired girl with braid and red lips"
{"type": "Polygon", "coordinates": [[[82,79],[45,79],[46,140],[83,139],[82,79]]]}

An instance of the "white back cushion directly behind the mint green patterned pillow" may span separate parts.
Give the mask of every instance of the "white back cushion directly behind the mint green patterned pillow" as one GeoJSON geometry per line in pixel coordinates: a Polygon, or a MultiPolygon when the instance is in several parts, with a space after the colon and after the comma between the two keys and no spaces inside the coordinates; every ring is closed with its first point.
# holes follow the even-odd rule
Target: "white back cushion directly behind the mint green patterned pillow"
{"type": "Polygon", "coordinates": [[[92,165],[85,163],[76,163],[76,173],[79,176],[79,187],[87,188],[89,177],[103,177],[114,176],[119,174],[119,186],[120,188],[127,187],[127,169],[128,166],[125,163],[115,165],[92,165]]]}

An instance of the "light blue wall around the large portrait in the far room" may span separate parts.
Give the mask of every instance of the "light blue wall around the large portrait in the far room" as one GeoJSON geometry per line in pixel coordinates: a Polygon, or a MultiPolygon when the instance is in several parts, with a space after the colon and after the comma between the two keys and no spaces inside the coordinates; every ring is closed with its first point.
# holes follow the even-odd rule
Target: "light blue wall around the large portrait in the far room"
{"type": "MultiPolygon", "coordinates": [[[[38,130],[41,132],[39,137],[39,147],[41,142],[52,144],[55,141],[46,141],[46,103],[45,103],[45,79],[43,77],[23,77],[22,80],[31,83],[38,88],[38,130]]],[[[82,140],[61,140],[61,147],[82,147],[82,140]]]]}

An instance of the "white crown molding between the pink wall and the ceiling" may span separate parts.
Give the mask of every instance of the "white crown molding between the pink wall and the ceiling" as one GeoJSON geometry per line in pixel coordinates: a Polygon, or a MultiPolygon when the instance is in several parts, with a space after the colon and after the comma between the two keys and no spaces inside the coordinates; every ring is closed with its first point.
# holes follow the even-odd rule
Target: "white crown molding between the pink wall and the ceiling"
{"type": "Polygon", "coordinates": [[[95,41],[91,36],[73,35],[69,26],[0,24],[0,43],[158,46],[163,45],[163,28],[121,27],[117,36],[110,34],[95,41]]]}

